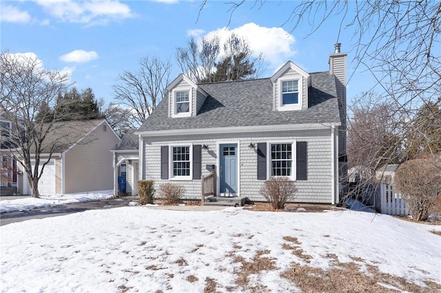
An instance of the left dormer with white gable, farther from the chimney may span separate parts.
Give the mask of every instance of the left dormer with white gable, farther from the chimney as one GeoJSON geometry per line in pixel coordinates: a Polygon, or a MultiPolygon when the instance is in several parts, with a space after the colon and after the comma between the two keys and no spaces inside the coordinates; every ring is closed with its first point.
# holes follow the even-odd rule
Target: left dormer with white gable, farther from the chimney
{"type": "Polygon", "coordinates": [[[208,96],[185,74],[179,74],[166,89],[172,118],[196,116],[208,96]]]}

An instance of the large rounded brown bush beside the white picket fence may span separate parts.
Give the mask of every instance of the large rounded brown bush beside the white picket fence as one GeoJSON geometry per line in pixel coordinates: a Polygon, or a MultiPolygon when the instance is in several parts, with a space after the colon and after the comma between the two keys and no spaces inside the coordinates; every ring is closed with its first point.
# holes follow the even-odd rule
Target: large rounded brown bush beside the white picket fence
{"type": "Polygon", "coordinates": [[[395,187],[404,195],[404,202],[413,219],[426,220],[441,195],[440,160],[415,159],[404,162],[397,169],[395,187]]]}

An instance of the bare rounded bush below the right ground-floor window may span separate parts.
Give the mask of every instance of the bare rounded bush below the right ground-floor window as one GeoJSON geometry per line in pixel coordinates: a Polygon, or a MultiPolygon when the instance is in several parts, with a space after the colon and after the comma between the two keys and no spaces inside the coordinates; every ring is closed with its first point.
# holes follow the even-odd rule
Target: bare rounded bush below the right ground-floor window
{"type": "Polygon", "coordinates": [[[260,194],[276,210],[285,208],[285,204],[294,199],[296,192],[296,184],[290,181],[288,177],[271,177],[260,188],[260,194]]]}

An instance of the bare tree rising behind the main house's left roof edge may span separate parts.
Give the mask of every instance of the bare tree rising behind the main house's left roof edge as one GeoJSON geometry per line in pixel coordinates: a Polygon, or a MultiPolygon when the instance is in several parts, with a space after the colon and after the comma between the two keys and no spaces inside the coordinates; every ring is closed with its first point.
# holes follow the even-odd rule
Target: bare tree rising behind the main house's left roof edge
{"type": "Polygon", "coordinates": [[[137,72],[120,74],[117,83],[112,86],[119,105],[133,113],[132,123],[136,127],[143,124],[163,98],[172,71],[170,61],[161,61],[156,57],[143,57],[139,65],[137,72]]]}

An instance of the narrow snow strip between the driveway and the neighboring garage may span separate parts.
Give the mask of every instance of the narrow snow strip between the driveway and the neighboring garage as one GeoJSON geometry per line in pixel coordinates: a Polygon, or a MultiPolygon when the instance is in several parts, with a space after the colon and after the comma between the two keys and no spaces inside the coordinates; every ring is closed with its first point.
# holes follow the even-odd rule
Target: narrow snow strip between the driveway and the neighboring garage
{"type": "Polygon", "coordinates": [[[89,202],[92,200],[107,199],[113,196],[113,191],[99,191],[96,193],[72,193],[65,195],[45,196],[40,198],[26,197],[0,202],[0,213],[9,213],[21,210],[32,210],[33,208],[44,208],[45,206],[59,206],[61,204],[72,204],[73,202],[89,202]]]}

